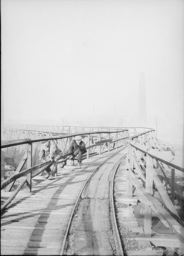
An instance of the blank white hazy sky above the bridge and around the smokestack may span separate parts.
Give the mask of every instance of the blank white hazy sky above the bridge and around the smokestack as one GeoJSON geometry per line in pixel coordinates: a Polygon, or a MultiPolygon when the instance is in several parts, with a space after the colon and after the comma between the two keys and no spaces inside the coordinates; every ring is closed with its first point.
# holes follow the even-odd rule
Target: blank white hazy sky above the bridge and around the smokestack
{"type": "Polygon", "coordinates": [[[182,144],[183,0],[1,0],[4,122],[147,126],[182,144]]]}

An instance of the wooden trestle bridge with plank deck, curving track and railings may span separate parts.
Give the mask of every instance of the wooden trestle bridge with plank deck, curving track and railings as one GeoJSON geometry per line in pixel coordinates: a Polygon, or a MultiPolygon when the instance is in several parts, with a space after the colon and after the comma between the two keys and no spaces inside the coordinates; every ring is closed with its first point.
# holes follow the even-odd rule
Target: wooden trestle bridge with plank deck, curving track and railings
{"type": "Polygon", "coordinates": [[[1,255],[184,255],[184,167],[151,128],[6,127],[1,167],[1,255]],[[79,134],[76,169],[65,152],[79,134]],[[68,159],[53,180],[43,140],[68,159]]]}

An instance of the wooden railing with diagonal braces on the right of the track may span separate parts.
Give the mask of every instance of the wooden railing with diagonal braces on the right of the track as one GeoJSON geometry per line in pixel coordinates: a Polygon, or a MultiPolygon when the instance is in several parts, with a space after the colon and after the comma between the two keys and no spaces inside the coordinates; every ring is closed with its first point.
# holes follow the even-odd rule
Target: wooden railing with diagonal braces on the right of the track
{"type": "Polygon", "coordinates": [[[135,187],[139,200],[145,204],[146,237],[151,237],[152,234],[152,211],[154,211],[163,224],[184,241],[184,228],[174,207],[175,198],[180,200],[182,197],[177,193],[175,175],[178,172],[184,172],[184,168],[172,162],[174,158],[172,152],[160,152],[157,146],[159,146],[158,142],[150,132],[134,136],[129,140],[127,157],[129,196],[133,196],[133,187],[135,187]],[[166,156],[169,160],[166,160],[166,156]],[[171,176],[170,180],[166,171],[171,176]],[[168,183],[170,197],[162,180],[168,183]],[[162,204],[154,197],[156,191],[161,196],[162,204]]]}

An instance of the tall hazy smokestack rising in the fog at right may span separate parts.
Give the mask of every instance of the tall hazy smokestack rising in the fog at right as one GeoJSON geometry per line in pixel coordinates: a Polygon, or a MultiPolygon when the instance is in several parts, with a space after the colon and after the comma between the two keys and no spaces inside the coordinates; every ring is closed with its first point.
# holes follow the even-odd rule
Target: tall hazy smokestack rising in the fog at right
{"type": "Polygon", "coordinates": [[[139,73],[139,126],[147,126],[144,72],[139,73]]]}

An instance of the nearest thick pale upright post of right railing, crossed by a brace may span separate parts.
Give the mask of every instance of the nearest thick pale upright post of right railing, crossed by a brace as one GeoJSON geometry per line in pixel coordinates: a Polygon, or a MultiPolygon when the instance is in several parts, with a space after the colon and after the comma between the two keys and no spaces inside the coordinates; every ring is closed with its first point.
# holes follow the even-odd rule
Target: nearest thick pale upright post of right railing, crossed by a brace
{"type": "MultiPolygon", "coordinates": [[[[153,195],[153,158],[146,154],[146,186],[145,192],[153,195]]],[[[152,234],[152,209],[145,205],[145,237],[151,237],[152,234]]]]}

